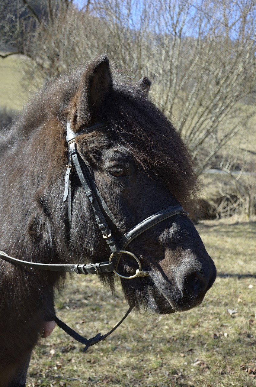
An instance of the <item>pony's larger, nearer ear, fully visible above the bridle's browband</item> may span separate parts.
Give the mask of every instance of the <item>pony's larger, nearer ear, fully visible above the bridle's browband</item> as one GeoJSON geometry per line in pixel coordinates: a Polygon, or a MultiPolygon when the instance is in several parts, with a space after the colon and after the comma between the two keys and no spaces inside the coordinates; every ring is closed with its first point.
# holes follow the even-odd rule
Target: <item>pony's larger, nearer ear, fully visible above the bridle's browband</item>
{"type": "Polygon", "coordinates": [[[87,65],[81,76],[75,97],[71,101],[68,119],[73,129],[97,117],[100,108],[112,89],[112,76],[108,58],[99,57],[87,65]]]}

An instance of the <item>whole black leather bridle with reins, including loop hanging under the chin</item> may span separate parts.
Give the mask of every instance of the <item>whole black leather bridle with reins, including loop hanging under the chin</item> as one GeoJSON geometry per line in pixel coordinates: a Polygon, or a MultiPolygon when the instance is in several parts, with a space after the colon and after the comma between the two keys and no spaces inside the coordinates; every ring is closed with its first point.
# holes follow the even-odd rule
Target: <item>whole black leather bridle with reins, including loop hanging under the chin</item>
{"type": "MultiPolygon", "coordinates": [[[[106,221],[103,212],[105,215],[111,220],[111,222],[116,226],[117,228],[117,222],[112,214],[112,212],[109,210],[106,202],[104,199],[102,199],[94,181],[92,180],[90,176],[90,171],[88,170],[85,163],[82,161],[79,153],[77,152],[77,144],[76,144],[76,137],[82,134],[88,134],[90,132],[94,132],[95,130],[99,129],[106,129],[107,125],[105,122],[99,122],[95,123],[94,125],[91,125],[90,127],[83,128],[79,132],[75,133],[72,131],[70,122],[67,122],[67,145],[68,145],[68,164],[66,165],[66,173],[65,173],[65,189],[64,189],[64,195],[63,195],[63,202],[66,202],[68,200],[68,223],[69,228],[72,227],[72,199],[73,199],[73,192],[72,192],[72,175],[75,170],[77,173],[77,176],[79,177],[80,183],[82,187],[84,188],[85,195],[87,199],[89,200],[89,203],[94,211],[94,216],[96,219],[96,223],[102,233],[102,237],[108,244],[111,255],[109,257],[108,261],[104,262],[96,262],[90,263],[90,264],[41,264],[38,262],[28,262],[25,260],[20,260],[17,258],[10,257],[5,252],[0,251],[0,257],[3,260],[6,260],[12,264],[19,264],[27,267],[34,267],[37,269],[42,270],[49,270],[49,271],[61,271],[61,272],[74,272],[77,274],[103,274],[108,272],[114,272],[117,276],[125,279],[133,279],[135,277],[147,277],[149,276],[148,272],[142,269],[142,265],[138,257],[126,250],[128,245],[132,240],[137,238],[137,236],[141,235],[143,232],[147,231],[151,227],[155,226],[156,224],[164,221],[165,219],[168,219],[169,217],[172,217],[174,215],[180,214],[182,216],[188,216],[188,212],[184,211],[183,207],[181,205],[175,205],[168,207],[167,209],[164,209],[162,211],[156,212],[155,214],[147,217],[142,222],[135,225],[133,228],[131,228],[128,232],[123,233],[123,236],[121,237],[121,240],[119,243],[116,243],[114,236],[111,233],[111,229],[108,225],[108,222],[106,221]],[[101,210],[102,208],[102,210],[101,210]],[[118,265],[121,260],[121,257],[123,254],[130,255],[138,264],[138,269],[135,271],[135,274],[131,276],[124,276],[122,274],[118,273],[118,265]]],[[[76,333],[73,329],[68,327],[65,323],[60,321],[58,317],[55,315],[51,315],[53,320],[55,320],[56,324],[59,325],[65,332],[67,332],[70,336],[72,336],[75,340],[81,342],[82,344],[86,344],[84,348],[84,352],[89,348],[89,346],[92,346],[96,344],[97,342],[105,339],[109,334],[111,334],[118,326],[123,322],[123,320],[128,316],[128,314],[133,309],[134,305],[131,305],[128,311],[126,312],[125,316],[121,321],[113,328],[111,329],[107,334],[101,335],[100,333],[96,336],[92,337],[91,339],[86,339],[85,337],[80,336],[78,333],[76,333]]]]}

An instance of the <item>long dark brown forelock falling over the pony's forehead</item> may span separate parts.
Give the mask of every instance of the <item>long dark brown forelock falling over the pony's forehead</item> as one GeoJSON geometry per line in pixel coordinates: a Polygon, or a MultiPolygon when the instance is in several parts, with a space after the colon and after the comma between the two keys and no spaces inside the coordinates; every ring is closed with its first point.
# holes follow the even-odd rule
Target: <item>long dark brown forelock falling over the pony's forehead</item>
{"type": "Polygon", "coordinates": [[[197,177],[188,149],[173,125],[131,86],[116,87],[104,116],[145,171],[151,170],[186,209],[196,197],[197,177]]]}

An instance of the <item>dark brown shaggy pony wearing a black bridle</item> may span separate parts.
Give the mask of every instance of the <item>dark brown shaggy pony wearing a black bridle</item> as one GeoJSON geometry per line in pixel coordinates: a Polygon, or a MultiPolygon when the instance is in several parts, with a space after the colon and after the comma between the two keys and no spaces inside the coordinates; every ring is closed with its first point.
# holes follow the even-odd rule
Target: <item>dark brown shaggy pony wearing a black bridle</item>
{"type": "MultiPolygon", "coordinates": [[[[113,83],[106,57],[63,75],[39,91],[1,136],[0,250],[41,263],[100,262],[109,248],[77,180],[71,228],[63,202],[67,164],[66,125],[79,132],[106,121],[106,130],[76,138],[77,149],[99,192],[117,219],[112,233],[132,228],[172,205],[188,209],[196,191],[190,156],[171,123],[148,100],[147,78],[113,83]]],[[[188,217],[173,216],[129,245],[148,277],[121,279],[129,304],[174,313],[200,304],[216,270],[188,217]]],[[[125,256],[119,271],[136,262],[125,256]]],[[[114,274],[100,275],[113,288],[114,274]]],[[[0,259],[0,387],[38,341],[53,310],[59,272],[0,259]]],[[[10,385],[10,384],[9,384],[10,385]]]]}

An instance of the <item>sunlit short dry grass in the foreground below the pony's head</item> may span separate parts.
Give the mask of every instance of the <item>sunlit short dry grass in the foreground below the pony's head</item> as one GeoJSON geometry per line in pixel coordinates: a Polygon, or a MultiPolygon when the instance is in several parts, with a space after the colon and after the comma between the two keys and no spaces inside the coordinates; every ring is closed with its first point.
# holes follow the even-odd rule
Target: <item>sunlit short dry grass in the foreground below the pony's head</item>
{"type": "MultiPolygon", "coordinates": [[[[200,307],[131,315],[108,339],[83,346],[56,328],[32,354],[27,385],[253,387],[256,385],[256,223],[199,226],[218,277],[200,307]]],[[[105,333],[127,310],[121,290],[74,277],[57,315],[85,336],[105,333]]]]}

